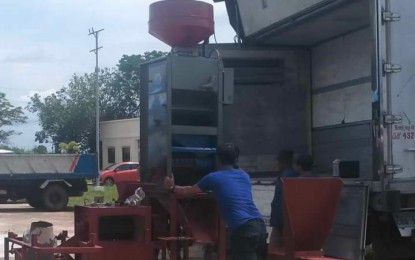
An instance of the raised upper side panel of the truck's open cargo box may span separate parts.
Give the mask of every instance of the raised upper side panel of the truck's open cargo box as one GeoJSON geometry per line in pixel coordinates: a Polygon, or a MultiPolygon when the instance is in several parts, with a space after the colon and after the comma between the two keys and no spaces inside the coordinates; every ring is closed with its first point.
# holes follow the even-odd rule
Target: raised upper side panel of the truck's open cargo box
{"type": "MultiPolygon", "coordinates": [[[[366,0],[236,2],[240,35],[261,44],[310,46],[370,24],[366,0]]],[[[230,17],[234,11],[228,9],[230,17]]]]}

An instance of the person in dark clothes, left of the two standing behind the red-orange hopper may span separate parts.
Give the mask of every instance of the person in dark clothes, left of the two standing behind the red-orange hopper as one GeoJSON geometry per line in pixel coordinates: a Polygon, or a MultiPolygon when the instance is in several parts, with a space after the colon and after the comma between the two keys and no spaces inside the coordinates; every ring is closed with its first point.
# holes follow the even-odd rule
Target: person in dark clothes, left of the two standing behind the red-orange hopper
{"type": "Polygon", "coordinates": [[[294,153],[283,150],[277,156],[277,170],[279,175],[275,182],[274,198],[271,202],[270,226],[272,227],[270,245],[281,247],[283,245],[283,195],[282,181],[284,177],[297,177],[298,173],[293,169],[294,153]]]}

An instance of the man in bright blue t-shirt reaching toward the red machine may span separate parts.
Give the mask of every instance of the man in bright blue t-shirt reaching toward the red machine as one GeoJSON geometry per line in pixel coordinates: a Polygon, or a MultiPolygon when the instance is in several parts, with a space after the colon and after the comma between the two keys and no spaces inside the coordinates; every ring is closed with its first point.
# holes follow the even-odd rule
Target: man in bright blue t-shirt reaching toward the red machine
{"type": "Polygon", "coordinates": [[[262,260],[266,254],[266,227],[254,204],[249,175],[236,166],[239,149],[230,143],[217,150],[218,168],[193,186],[177,186],[166,177],[164,187],[182,196],[212,191],[231,232],[230,247],[234,260],[262,260]]]}

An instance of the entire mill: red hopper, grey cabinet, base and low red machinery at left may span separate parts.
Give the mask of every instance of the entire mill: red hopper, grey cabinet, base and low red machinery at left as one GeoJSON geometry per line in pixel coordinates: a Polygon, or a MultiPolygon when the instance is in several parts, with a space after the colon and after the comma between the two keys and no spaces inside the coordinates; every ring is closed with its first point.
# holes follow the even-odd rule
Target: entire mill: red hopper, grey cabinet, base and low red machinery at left
{"type": "Polygon", "coordinates": [[[188,259],[195,243],[207,248],[206,257],[226,259],[226,227],[213,197],[185,199],[162,189],[171,173],[177,184],[193,184],[215,166],[220,62],[197,49],[214,32],[213,6],[193,0],[155,2],[149,32],[172,52],[141,67],[142,182],[117,183],[115,205],[75,207],[75,235],[68,238],[64,231],[54,237],[54,245],[39,245],[36,234],[29,242],[9,233],[6,260],[11,254],[16,260],[188,259]],[[194,66],[202,69],[189,71],[194,66]],[[145,198],[136,200],[139,188],[145,198]]]}

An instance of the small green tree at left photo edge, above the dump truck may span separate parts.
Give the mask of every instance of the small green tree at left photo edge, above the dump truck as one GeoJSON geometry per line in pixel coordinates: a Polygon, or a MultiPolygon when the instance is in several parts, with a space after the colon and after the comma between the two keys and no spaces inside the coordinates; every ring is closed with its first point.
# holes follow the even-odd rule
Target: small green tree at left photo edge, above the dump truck
{"type": "Polygon", "coordinates": [[[19,134],[13,130],[3,130],[5,126],[25,123],[27,117],[24,115],[21,107],[13,106],[6,98],[6,94],[0,92],[0,144],[7,144],[9,137],[19,134]]]}

